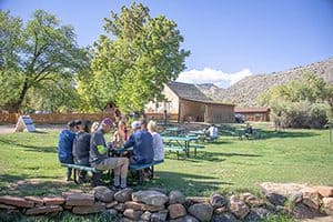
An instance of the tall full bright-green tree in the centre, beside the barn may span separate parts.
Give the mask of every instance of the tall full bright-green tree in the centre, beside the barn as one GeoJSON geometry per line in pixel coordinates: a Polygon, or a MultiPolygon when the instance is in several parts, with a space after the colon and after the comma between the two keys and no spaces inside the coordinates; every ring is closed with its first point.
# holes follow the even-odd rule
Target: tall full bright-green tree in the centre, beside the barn
{"type": "Polygon", "coordinates": [[[107,33],[94,43],[92,75],[81,81],[81,92],[89,92],[87,99],[100,109],[115,102],[124,112],[161,100],[164,83],[178,78],[190,54],[180,49],[183,37],[176,23],[163,16],[151,18],[135,2],[104,21],[107,33]]]}

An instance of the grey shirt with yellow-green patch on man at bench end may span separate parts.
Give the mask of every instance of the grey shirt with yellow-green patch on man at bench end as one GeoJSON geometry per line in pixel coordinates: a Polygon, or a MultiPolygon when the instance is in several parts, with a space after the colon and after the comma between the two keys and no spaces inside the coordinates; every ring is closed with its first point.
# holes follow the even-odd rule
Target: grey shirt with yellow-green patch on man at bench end
{"type": "Polygon", "coordinates": [[[104,133],[100,129],[92,133],[90,139],[90,157],[89,162],[90,163],[100,163],[103,160],[105,160],[108,157],[108,149],[107,143],[104,139],[104,133]]]}

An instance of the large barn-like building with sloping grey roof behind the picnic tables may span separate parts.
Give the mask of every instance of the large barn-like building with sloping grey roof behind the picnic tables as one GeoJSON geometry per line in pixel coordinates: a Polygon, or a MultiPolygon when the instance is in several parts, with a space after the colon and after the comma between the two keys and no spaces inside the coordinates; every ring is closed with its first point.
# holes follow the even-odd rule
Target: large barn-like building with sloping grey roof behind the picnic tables
{"type": "Polygon", "coordinates": [[[147,112],[176,113],[178,121],[234,122],[234,105],[214,102],[194,84],[169,82],[163,90],[165,102],[151,102],[147,112]]]}

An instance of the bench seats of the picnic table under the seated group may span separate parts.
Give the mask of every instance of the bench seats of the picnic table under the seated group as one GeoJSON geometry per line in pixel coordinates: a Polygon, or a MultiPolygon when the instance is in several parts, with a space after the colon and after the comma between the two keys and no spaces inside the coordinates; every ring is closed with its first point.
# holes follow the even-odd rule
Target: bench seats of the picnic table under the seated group
{"type": "MultiPolygon", "coordinates": [[[[145,163],[145,164],[130,164],[129,165],[129,170],[131,171],[135,171],[137,172],[137,175],[138,175],[138,182],[141,184],[144,180],[144,174],[143,174],[143,170],[144,169],[151,169],[151,176],[150,179],[153,179],[154,176],[154,165],[157,164],[160,164],[160,163],[163,163],[164,160],[161,160],[161,161],[153,161],[151,163],[145,163]]],[[[85,165],[78,165],[78,164],[69,164],[69,163],[61,163],[61,167],[64,167],[64,168],[71,168],[73,169],[73,178],[74,178],[74,182],[77,184],[79,184],[79,181],[78,181],[78,172],[79,171],[87,171],[87,172],[91,172],[93,175],[92,175],[92,185],[97,185],[98,182],[99,182],[99,179],[100,176],[98,176],[98,174],[101,174],[103,171],[101,170],[98,170],[95,168],[92,168],[92,167],[85,167],[85,165]]]]}

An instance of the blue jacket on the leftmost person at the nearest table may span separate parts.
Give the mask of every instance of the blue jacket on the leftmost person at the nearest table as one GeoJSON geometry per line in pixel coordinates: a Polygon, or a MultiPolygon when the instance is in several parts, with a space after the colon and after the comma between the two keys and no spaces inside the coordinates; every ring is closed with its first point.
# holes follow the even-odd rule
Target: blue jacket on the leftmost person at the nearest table
{"type": "Polygon", "coordinates": [[[70,130],[62,130],[59,134],[58,158],[60,162],[73,160],[73,141],[75,133],[70,130]]]}

